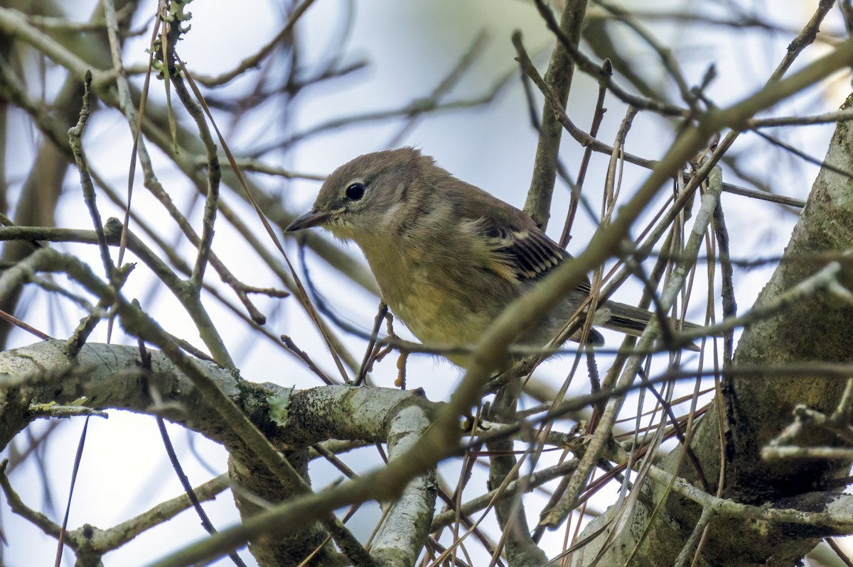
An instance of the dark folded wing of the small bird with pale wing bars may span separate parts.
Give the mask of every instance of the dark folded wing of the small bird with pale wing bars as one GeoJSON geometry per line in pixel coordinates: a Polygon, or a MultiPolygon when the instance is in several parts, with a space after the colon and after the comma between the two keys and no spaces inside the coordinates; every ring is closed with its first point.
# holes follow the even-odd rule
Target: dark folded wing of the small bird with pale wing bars
{"type": "MultiPolygon", "coordinates": [[[[502,268],[496,271],[515,282],[542,278],[551,268],[572,257],[537,226],[520,228],[506,221],[481,218],[476,230],[502,268]]],[[[583,278],[577,289],[589,294],[589,279],[583,278]]]]}

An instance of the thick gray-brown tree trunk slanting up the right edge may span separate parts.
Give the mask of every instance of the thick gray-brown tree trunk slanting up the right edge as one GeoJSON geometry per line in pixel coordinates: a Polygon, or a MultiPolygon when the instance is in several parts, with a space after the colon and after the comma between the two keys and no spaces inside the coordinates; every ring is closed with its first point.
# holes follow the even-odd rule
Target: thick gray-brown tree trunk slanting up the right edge
{"type": "MultiPolygon", "coordinates": [[[[848,99],[845,107],[850,106],[848,99]]],[[[758,297],[762,306],[791,289],[827,264],[827,254],[838,257],[853,249],[853,132],[850,123],[839,123],[827,151],[825,163],[812,186],[809,201],[795,227],[783,260],[773,278],[758,297]],[[833,169],[835,169],[833,171],[833,169]]],[[[850,271],[842,281],[850,284],[850,271]]],[[[853,352],[853,306],[837,295],[821,292],[806,301],[786,308],[774,317],[750,324],[742,335],[734,357],[734,372],[725,377],[722,415],[725,438],[719,436],[716,400],[697,424],[692,447],[699,457],[705,477],[717,481],[721,443],[725,450],[725,481],[722,497],[733,501],[771,506],[802,506],[804,511],[821,512],[814,499],[804,495],[821,490],[833,478],[842,478],[850,469],[849,461],[798,459],[763,461],[760,452],[792,422],[796,404],[831,414],[844,390],[844,379],[833,375],[786,374],[785,364],[847,363],[853,352]],[[766,370],[739,375],[739,367],[763,367],[766,370]]],[[[835,436],[819,429],[808,429],[797,439],[802,446],[837,444],[835,436]]],[[[688,480],[698,478],[681,448],[664,458],[664,470],[688,480]],[[679,467],[680,466],[680,467],[679,467]]],[[[717,486],[712,487],[714,490],[717,486]]],[[[610,522],[615,510],[590,523],[583,537],[606,529],[587,547],[572,557],[572,565],[590,565],[599,553],[601,565],[624,564],[631,553],[632,564],[669,565],[693,531],[701,508],[693,501],[665,493],[662,484],[647,480],[643,491],[649,501],[666,498],[664,508],[651,518],[651,508],[643,499],[635,506],[610,545],[601,546],[611,536],[610,522]],[[635,550],[636,547],[636,550],[635,550]]],[[[711,519],[709,537],[699,564],[709,565],[791,565],[803,558],[831,529],[815,529],[779,523],[756,522],[754,518],[711,519]]]]}

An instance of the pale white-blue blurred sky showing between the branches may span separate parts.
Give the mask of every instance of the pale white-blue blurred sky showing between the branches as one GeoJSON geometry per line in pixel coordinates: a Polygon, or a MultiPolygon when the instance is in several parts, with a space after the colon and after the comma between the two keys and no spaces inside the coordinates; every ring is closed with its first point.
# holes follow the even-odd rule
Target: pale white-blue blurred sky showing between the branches
{"type": "MultiPolygon", "coordinates": [[[[248,54],[254,53],[258,46],[273,37],[281,27],[281,13],[273,4],[276,3],[255,0],[239,3],[240,9],[235,9],[237,3],[225,0],[192,3],[189,11],[193,14],[193,27],[179,46],[179,53],[189,69],[195,73],[218,74],[233,68],[248,54]]],[[[781,60],[787,43],[809,19],[815,7],[815,3],[810,2],[785,3],[784,10],[768,9],[768,6],[775,6],[775,3],[766,3],[767,6],[765,3],[743,4],[760,11],[763,17],[790,32],[780,33],[773,39],[765,32],[731,31],[725,27],[691,27],[689,33],[685,33],[683,26],[668,25],[656,20],[647,21],[647,26],[653,29],[659,41],[674,50],[676,59],[682,64],[691,85],[699,83],[708,65],[716,64],[717,79],[707,93],[719,106],[739,100],[754,92],[763,83],[781,60]]],[[[335,38],[342,31],[341,14],[345,12],[347,5],[348,3],[339,0],[318,0],[308,10],[299,24],[297,36],[303,66],[310,69],[328,58],[329,49],[334,48],[335,38]]],[[[635,8],[644,3],[631,2],[624,5],[635,8]]],[[[664,3],[653,2],[645,5],[659,11],[671,6],[692,9],[692,3],[688,2],[665,3],[665,6],[664,3]]],[[[265,103],[269,110],[266,111],[268,114],[265,114],[267,119],[264,122],[242,123],[237,129],[230,129],[228,123],[220,123],[233,150],[239,153],[246,147],[252,148],[270,140],[286,138],[334,117],[406,105],[431,91],[456,65],[461,54],[468,49],[473,38],[482,29],[489,34],[484,54],[475,61],[467,75],[444,100],[477,97],[488,91],[496,78],[514,68],[515,53],[509,41],[514,29],[523,31],[525,46],[531,53],[550,41],[548,31],[536,9],[516,0],[469,0],[465,3],[454,0],[417,0],[404,3],[394,0],[361,0],[352,3],[351,7],[355,9],[355,20],[351,36],[346,43],[344,61],[368,60],[368,68],[305,91],[287,116],[282,116],[279,101],[270,98],[265,103]]],[[[705,6],[705,9],[720,16],[728,14],[724,5],[718,6],[716,3],[713,6],[705,6]]],[[[86,20],[90,14],[90,6],[87,5],[85,9],[75,7],[74,13],[74,19],[86,20]]],[[[139,25],[142,25],[142,22],[136,22],[136,26],[139,25]]],[[[837,12],[831,14],[822,29],[841,29],[837,12]]],[[[624,33],[623,40],[624,49],[633,50],[636,60],[646,64],[638,71],[645,73],[647,77],[659,77],[652,74],[654,70],[659,69],[656,56],[628,31],[624,33]]],[[[127,65],[147,60],[147,54],[143,52],[144,43],[147,41],[148,31],[144,38],[129,45],[129,49],[125,51],[127,65]]],[[[809,49],[808,54],[814,56],[821,53],[821,49],[823,48],[809,49]]],[[[795,68],[804,64],[808,54],[798,61],[795,68]]],[[[547,61],[547,56],[540,56],[538,60],[543,64],[547,61]]],[[[543,69],[543,65],[540,68],[543,69]]],[[[659,78],[664,80],[664,77],[659,78]]],[[[624,80],[619,83],[627,86],[624,80]]],[[[229,86],[229,89],[245,88],[241,87],[241,84],[229,86]]],[[[844,89],[849,85],[838,81],[837,86],[839,88],[829,91],[824,87],[812,89],[798,99],[781,105],[773,114],[816,114],[833,110],[844,100],[844,95],[847,94],[844,89]]],[[[162,83],[154,82],[152,89],[154,93],[158,93],[153,94],[153,97],[160,99],[162,83]]],[[[588,77],[577,74],[569,109],[572,119],[583,129],[589,127],[596,94],[595,83],[588,77]]],[[[537,102],[538,104],[540,103],[537,102]]],[[[608,96],[606,106],[608,112],[598,137],[612,143],[624,115],[624,106],[612,96],[608,96]]],[[[182,115],[182,122],[189,123],[183,112],[178,112],[182,115]]],[[[111,113],[112,121],[107,120],[107,116],[109,113],[104,113],[102,119],[91,124],[84,140],[85,146],[91,167],[106,175],[119,191],[124,192],[131,137],[126,124],[119,120],[118,113],[111,113]]],[[[363,123],[335,130],[299,146],[296,151],[287,155],[272,153],[265,156],[264,160],[296,171],[327,174],[339,164],[361,153],[384,149],[400,125],[399,121],[363,123]]],[[[809,127],[787,130],[782,135],[789,142],[820,159],[826,151],[831,132],[831,127],[809,127]]],[[[21,139],[24,143],[20,144],[18,150],[20,158],[10,160],[9,169],[19,167],[23,174],[29,168],[29,160],[35,147],[34,140],[38,140],[38,135],[24,133],[21,139]],[[15,166],[15,163],[18,165],[15,166]]],[[[641,113],[630,132],[626,150],[645,158],[659,158],[671,140],[672,130],[666,123],[658,117],[641,113]]],[[[524,203],[530,182],[536,141],[537,135],[529,123],[520,83],[514,78],[508,89],[490,106],[474,111],[442,112],[421,118],[415,129],[409,130],[403,144],[420,147],[457,177],[481,186],[520,207],[524,203]]],[[[189,203],[192,187],[180,174],[166,167],[165,159],[159,152],[151,145],[148,147],[156,158],[156,165],[159,166],[157,171],[160,180],[179,206],[183,207],[183,203],[189,203]]],[[[778,182],[774,184],[776,191],[797,198],[807,196],[815,176],[815,167],[769,148],[754,135],[742,135],[738,146],[735,147],[735,150],[738,149],[748,149],[751,152],[752,157],[744,165],[751,173],[764,178],[768,171],[780,172],[778,182]]],[[[582,148],[568,135],[564,135],[561,157],[573,175],[577,173],[582,152],[582,148]]],[[[598,192],[601,190],[606,160],[606,157],[601,156],[593,159],[585,184],[586,194],[595,206],[598,204],[598,192]]],[[[72,173],[73,175],[68,177],[67,193],[59,209],[59,226],[89,228],[90,219],[76,186],[77,175],[76,172],[72,173]]],[[[632,191],[643,175],[641,169],[626,165],[623,191],[632,191]]],[[[725,169],[723,177],[730,182],[748,185],[728,175],[725,169]]],[[[313,181],[289,183],[268,176],[254,176],[254,179],[271,190],[281,192],[282,198],[294,213],[307,210],[319,189],[319,183],[313,181]]],[[[137,187],[135,208],[150,211],[157,226],[162,226],[162,233],[167,235],[167,240],[175,238],[177,229],[168,221],[159,205],[148,198],[142,186],[137,183],[137,187]]],[[[548,233],[557,238],[568,201],[568,192],[560,181],[554,196],[552,223],[548,233]]],[[[119,209],[106,199],[99,198],[104,218],[111,215],[120,216],[119,209]]],[[[241,205],[241,200],[236,198],[232,191],[223,190],[223,198],[241,210],[243,220],[257,227],[258,234],[263,233],[260,223],[241,205]]],[[[756,204],[730,194],[723,196],[722,203],[727,215],[734,257],[751,259],[780,254],[796,220],[793,215],[775,205],[756,204]]],[[[197,203],[192,217],[195,226],[200,226],[200,209],[200,203],[197,203]]],[[[577,218],[574,238],[569,247],[573,253],[583,250],[594,229],[583,212],[579,212],[577,218]]],[[[246,283],[262,287],[277,285],[275,278],[270,276],[247,243],[233,232],[222,217],[218,221],[214,249],[229,268],[246,283]]],[[[292,257],[295,259],[293,245],[288,249],[294,252],[292,257]]],[[[94,266],[100,266],[93,249],[73,250],[90,259],[94,266]]],[[[349,250],[358,255],[355,247],[349,247],[349,250]]],[[[186,245],[183,251],[187,258],[193,257],[186,245]]],[[[328,278],[333,272],[310,253],[308,262],[318,288],[329,303],[345,318],[368,329],[373,321],[376,299],[355,285],[341,283],[339,278],[328,278]]],[[[137,266],[131,282],[125,288],[126,295],[141,299],[149,296],[152,283],[146,278],[145,272],[144,266],[137,266]]],[[[768,277],[767,269],[738,272],[735,287],[741,309],[751,305],[768,277]]],[[[218,283],[218,276],[212,269],[208,270],[207,278],[208,281],[218,283]]],[[[619,299],[634,300],[637,289],[639,288],[636,285],[625,286],[621,292],[624,295],[619,295],[619,299]]],[[[225,295],[228,295],[227,291],[225,295]]],[[[718,297],[719,294],[716,295],[718,297]]],[[[161,290],[154,297],[154,301],[148,305],[143,304],[143,307],[151,310],[154,317],[171,333],[199,345],[197,332],[171,295],[161,290]]],[[[701,297],[701,294],[697,297],[701,297]]],[[[32,306],[32,312],[26,320],[51,335],[67,336],[77,324],[78,318],[83,316],[82,313],[67,308],[61,301],[44,301],[44,295],[39,295],[38,298],[40,301],[32,306]],[[60,305],[63,305],[62,310],[57,309],[60,305]]],[[[258,296],[254,296],[254,299],[268,315],[270,330],[275,334],[293,335],[301,348],[316,355],[316,361],[328,370],[329,375],[334,374],[334,366],[328,355],[313,331],[306,330],[310,329],[310,324],[295,307],[293,300],[263,301],[258,296]]],[[[231,333],[223,330],[224,339],[245,378],[252,381],[272,381],[282,386],[317,385],[316,379],[280,348],[272,346],[269,341],[257,340],[247,333],[247,329],[241,324],[232,324],[234,319],[223,312],[215,301],[208,301],[207,305],[214,320],[223,322],[220,325],[221,330],[226,329],[228,325],[230,329],[234,329],[231,333]]],[[[700,316],[699,309],[699,306],[693,309],[696,317],[700,316]]],[[[397,330],[400,329],[398,324],[397,330]]],[[[92,341],[103,341],[104,336],[103,329],[98,329],[92,341]]],[[[615,335],[606,336],[608,344],[618,344],[615,335]]],[[[132,342],[121,333],[114,339],[119,342],[132,342]]],[[[10,346],[26,345],[32,343],[33,339],[30,335],[20,333],[14,335],[12,341],[14,344],[10,346]]],[[[363,341],[348,337],[347,344],[351,347],[351,352],[361,358],[363,341]]],[[[542,375],[553,378],[555,382],[561,380],[566,361],[570,360],[571,358],[566,357],[549,363],[543,369],[542,375]]],[[[392,386],[396,375],[395,362],[396,358],[389,357],[377,366],[374,380],[378,385],[392,386]]],[[[600,362],[600,365],[606,368],[603,362],[600,362]]],[[[428,398],[440,400],[449,396],[460,371],[452,364],[433,358],[413,357],[409,358],[408,376],[409,387],[423,387],[428,398]]],[[[576,384],[578,388],[586,387],[580,382],[576,384]]],[[[626,407],[630,407],[630,404],[631,401],[626,407]]],[[[49,472],[50,477],[47,483],[54,499],[55,512],[49,512],[52,518],[57,518],[57,513],[61,517],[65,506],[68,478],[82,424],[82,420],[62,422],[60,431],[55,433],[46,454],[43,455],[44,469],[49,472]]],[[[44,430],[44,426],[44,423],[39,423],[31,430],[40,432],[44,430]]],[[[171,434],[191,482],[199,484],[210,478],[210,473],[190,454],[183,429],[171,427],[171,434]]],[[[195,444],[200,455],[203,455],[216,472],[224,470],[223,450],[199,437],[195,438],[195,444]]],[[[359,455],[346,460],[357,471],[366,470],[377,463],[374,455],[366,452],[359,455]]],[[[450,483],[456,482],[456,467],[456,464],[450,464],[443,468],[443,472],[447,473],[445,478],[450,483]]],[[[337,472],[324,472],[327,468],[322,464],[312,467],[312,472],[317,472],[313,475],[316,487],[337,478],[337,472]]],[[[42,509],[44,488],[42,479],[38,477],[35,461],[30,461],[16,470],[11,480],[27,503],[42,509]]],[[[475,480],[471,486],[482,484],[475,480]]],[[[113,412],[108,421],[96,419],[90,423],[69,526],[76,528],[80,524],[90,523],[106,528],[142,513],[158,501],[180,492],[177,478],[171,471],[156,434],[154,420],[113,412]]],[[[601,501],[595,503],[594,507],[603,509],[605,506],[606,502],[601,501]]],[[[219,527],[224,528],[237,519],[228,494],[219,496],[218,501],[206,505],[206,508],[213,523],[219,527]]],[[[528,511],[537,512],[537,507],[531,506],[528,511]]],[[[359,514],[360,516],[353,520],[352,526],[357,536],[364,537],[378,518],[377,508],[364,507],[359,514]]],[[[13,567],[52,564],[55,553],[52,540],[45,538],[30,524],[13,517],[8,507],[0,507],[0,517],[3,519],[3,532],[9,541],[9,547],[6,547],[3,553],[3,564],[13,567]]],[[[492,534],[494,535],[494,532],[492,534]]],[[[183,513],[176,521],[137,538],[119,552],[107,555],[104,558],[105,564],[145,564],[201,536],[203,532],[198,527],[194,514],[183,513]]],[[[546,536],[544,541],[553,553],[559,551],[562,536],[562,531],[546,536]]],[[[251,564],[251,556],[248,553],[242,555],[251,564]]],[[[70,555],[67,555],[66,564],[71,564],[70,555]]],[[[229,564],[229,561],[225,559],[219,564],[229,564]]]]}

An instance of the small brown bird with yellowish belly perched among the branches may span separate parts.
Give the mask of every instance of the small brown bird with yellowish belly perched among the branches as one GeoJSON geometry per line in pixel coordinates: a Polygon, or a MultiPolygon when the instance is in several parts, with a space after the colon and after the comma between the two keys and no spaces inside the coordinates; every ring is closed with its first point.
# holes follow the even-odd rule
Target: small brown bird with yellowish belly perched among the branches
{"type": "MultiPolygon", "coordinates": [[[[530,216],[410,147],[336,169],[313,209],[285,230],[311,226],[358,244],[382,299],[427,344],[473,345],[506,306],[572,258],[530,216]]],[[[519,344],[547,344],[589,293],[584,279],[519,344]]],[[[595,324],[640,335],[652,315],[606,301],[595,324]]],[[[604,342],[597,331],[589,341],[604,342]]]]}

